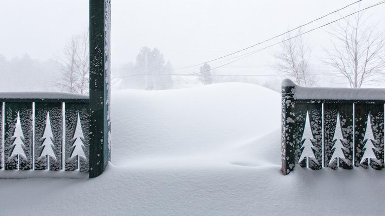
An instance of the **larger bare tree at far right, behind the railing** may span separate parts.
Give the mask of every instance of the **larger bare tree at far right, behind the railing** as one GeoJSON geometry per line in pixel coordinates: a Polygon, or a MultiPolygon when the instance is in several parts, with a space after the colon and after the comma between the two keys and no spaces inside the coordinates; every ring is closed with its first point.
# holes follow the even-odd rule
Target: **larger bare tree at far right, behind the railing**
{"type": "Polygon", "coordinates": [[[346,79],[352,88],[381,80],[385,69],[384,33],[366,24],[363,13],[332,27],[333,48],[324,62],[346,79]]]}

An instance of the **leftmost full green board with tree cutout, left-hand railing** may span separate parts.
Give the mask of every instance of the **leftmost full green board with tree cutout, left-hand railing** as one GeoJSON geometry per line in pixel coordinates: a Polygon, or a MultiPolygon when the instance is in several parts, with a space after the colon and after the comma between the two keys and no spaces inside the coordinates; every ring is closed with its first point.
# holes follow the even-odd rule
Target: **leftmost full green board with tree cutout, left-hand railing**
{"type": "Polygon", "coordinates": [[[4,110],[4,168],[5,170],[30,170],[32,169],[32,103],[5,103],[4,110]],[[22,153],[15,154],[17,150],[22,153]]]}

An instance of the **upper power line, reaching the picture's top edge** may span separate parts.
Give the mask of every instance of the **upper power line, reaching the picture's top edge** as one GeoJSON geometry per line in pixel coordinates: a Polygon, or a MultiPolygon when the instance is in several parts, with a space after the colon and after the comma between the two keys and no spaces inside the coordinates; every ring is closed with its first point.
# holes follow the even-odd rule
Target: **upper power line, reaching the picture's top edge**
{"type": "Polygon", "coordinates": [[[308,23],[305,23],[305,24],[303,24],[303,25],[301,25],[301,26],[298,26],[297,28],[291,29],[291,30],[289,30],[289,31],[287,31],[287,32],[284,32],[284,33],[280,34],[280,35],[273,36],[273,37],[271,37],[271,38],[269,38],[269,39],[266,39],[266,40],[261,41],[261,42],[256,43],[256,44],[253,44],[253,45],[248,46],[248,47],[246,47],[246,48],[240,49],[240,50],[238,50],[238,51],[229,53],[229,54],[227,54],[227,55],[224,55],[224,56],[221,56],[221,57],[219,57],[219,58],[212,59],[212,60],[209,60],[209,61],[206,61],[206,62],[203,62],[203,63],[199,63],[199,64],[196,64],[196,65],[191,65],[191,66],[187,66],[187,67],[182,67],[182,68],[177,68],[177,69],[175,69],[175,70],[181,70],[181,69],[192,68],[192,67],[196,67],[196,66],[199,66],[199,65],[203,65],[203,64],[205,64],[205,63],[209,63],[209,62],[213,62],[213,61],[216,61],[216,60],[219,60],[219,59],[226,58],[226,57],[231,56],[231,55],[233,55],[233,54],[242,52],[242,51],[244,51],[244,50],[247,50],[247,49],[250,49],[250,48],[255,47],[255,46],[257,46],[257,45],[260,45],[260,44],[262,44],[262,43],[265,43],[265,42],[267,42],[267,41],[269,41],[269,40],[275,39],[275,38],[277,38],[277,37],[279,37],[279,36],[283,36],[283,35],[285,35],[285,34],[287,34],[287,33],[293,32],[293,31],[295,31],[295,30],[297,30],[297,29],[300,29],[300,28],[302,28],[302,27],[304,27],[304,26],[306,26],[306,25],[309,25],[309,24],[311,24],[311,23],[313,23],[313,22],[315,22],[315,21],[318,21],[318,20],[320,20],[320,19],[323,19],[323,18],[325,18],[325,17],[327,17],[327,16],[329,16],[329,15],[331,15],[331,14],[333,14],[333,13],[336,13],[336,12],[338,12],[338,11],[340,11],[340,10],[343,10],[343,9],[345,9],[346,7],[349,7],[349,6],[351,6],[351,5],[353,5],[353,4],[356,4],[356,3],[360,2],[360,1],[362,1],[362,0],[357,0],[357,1],[353,2],[353,3],[350,3],[350,4],[346,5],[346,6],[344,6],[344,7],[340,8],[340,9],[338,9],[338,10],[332,11],[332,12],[330,12],[330,13],[328,13],[328,14],[322,16],[322,17],[319,17],[319,18],[317,18],[317,19],[311,20],[311,21],[308,22],[308,23]]]}

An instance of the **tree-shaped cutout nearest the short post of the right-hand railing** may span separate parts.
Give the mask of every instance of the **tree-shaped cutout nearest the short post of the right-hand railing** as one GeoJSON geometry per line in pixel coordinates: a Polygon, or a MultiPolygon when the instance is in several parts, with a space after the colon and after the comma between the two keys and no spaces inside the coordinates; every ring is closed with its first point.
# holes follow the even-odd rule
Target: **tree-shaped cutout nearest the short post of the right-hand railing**
{"type": "MultiPolygon", "coordinates": [[[[314,152],[317,151],[314,148],[314,137],[313,137],[312,130],[310,127],[310,118],[309,118],[309,112],[308,111],[306,113],[304,135],[302,137],[305,139],[303,139],[301,142],[302,145],[301,145],[301,149],[300,149],[301,156],[299,159],[299,164],[302,167],[308,167],[308,163],[310,161],[310,158],[315,159],[314,152]]],[[[316,162],[316,160],[314,160],[314,162],[316,162]]]]}

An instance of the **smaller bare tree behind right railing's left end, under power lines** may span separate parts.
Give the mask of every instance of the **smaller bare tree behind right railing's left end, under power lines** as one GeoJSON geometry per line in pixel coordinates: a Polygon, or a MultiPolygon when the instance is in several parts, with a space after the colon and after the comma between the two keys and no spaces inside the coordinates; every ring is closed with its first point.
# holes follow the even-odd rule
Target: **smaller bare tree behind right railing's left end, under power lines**
{"type": "Polygon", "coordinates": [[[310,73],[311,49],[301,36],[301,31],[298,31],[298,35],[294,38],[290,34],[283,37],[281,50],[274,53],[276,62],[272,68],[288,75],[299,85],[313,86],[316,79],[310,73]]]}

